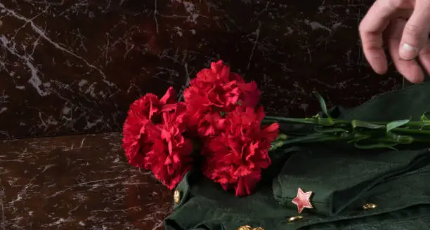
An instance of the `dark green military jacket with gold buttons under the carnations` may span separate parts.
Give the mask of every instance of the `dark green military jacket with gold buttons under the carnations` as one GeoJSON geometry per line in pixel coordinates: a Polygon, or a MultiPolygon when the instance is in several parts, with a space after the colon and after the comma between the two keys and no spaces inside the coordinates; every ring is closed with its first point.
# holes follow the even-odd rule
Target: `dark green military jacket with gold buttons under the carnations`
{"type": "MultiPolygon", "coordinates": [[[[362,121],[419,121],[430,111],[430,83],[375,97],[332,116],[362,121]]],[[[285,129],[300,129],[286,126],[285,129]]],[[[302,127],[305,128],[305,127],[302,127]]],[[[235,197],[189,172],[176,192],[166,230],[430,229],[430,150],[360,150],[344,143],[302,144],[271,152],[256,193],[235,197]],[[298,213],[298,188],[312,191],[313,209],[298,213]]]]}

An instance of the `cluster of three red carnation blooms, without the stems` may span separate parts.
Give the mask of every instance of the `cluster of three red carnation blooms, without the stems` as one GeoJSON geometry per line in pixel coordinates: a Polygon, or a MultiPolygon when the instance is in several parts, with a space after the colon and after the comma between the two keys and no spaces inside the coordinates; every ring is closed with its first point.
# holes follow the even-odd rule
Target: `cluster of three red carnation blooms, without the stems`
{"type": "Polygon", "coordinates": [[[198,72],[183,97],[177,102],[169,88],[161,99],[148,93],[131,104],[123,130],[129,163],[174,189],[199,154],[205,176],[236,196],[252,194],[278,136],[278,123],[261,124],[256,83],[220,60],[198,72]]]}

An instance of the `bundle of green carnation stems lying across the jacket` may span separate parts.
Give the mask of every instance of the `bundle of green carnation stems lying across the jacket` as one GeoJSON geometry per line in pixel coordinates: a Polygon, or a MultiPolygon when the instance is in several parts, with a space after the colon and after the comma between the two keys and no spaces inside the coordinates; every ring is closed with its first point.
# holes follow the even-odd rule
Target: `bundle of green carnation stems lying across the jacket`
{"type": "Polygon", "coordinates": [[[281,133],[273,142],[271,149],[277,149],[285,144],[332,141],[354,143],[360,149],[395,149],[393,146],[397,144],[430,143],[430,130],[424,129],[429,126],[429,121],[406,122],[403,126],[396,128],[393,128],[392,125],[392,128],[389,128],[390,122],[346,121],[318,116],[305,119],[266,116],[263,122],[299,123],[315,126],[315,133],[304,135],[281,133]],[[385,135],[381,133],[381,130],[385,130],[385,135]],[[367,144],[361,144],[363,142],[367,144]]]}

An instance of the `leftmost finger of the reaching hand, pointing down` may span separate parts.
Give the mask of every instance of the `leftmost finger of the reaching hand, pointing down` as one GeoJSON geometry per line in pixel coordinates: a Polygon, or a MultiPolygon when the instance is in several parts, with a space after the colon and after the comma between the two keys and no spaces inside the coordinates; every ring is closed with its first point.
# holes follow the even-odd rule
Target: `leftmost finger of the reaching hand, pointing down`
{"type": "Polygon", "coordinates": [[[360,23],[360,39],[363,52],[370,66],[377,74],[384,74],[388,69],[384,52],[384,39],[382,34],[388,27],[390,18],[398,10],[392,6],[391,1],[377,0],[360,23]]]}

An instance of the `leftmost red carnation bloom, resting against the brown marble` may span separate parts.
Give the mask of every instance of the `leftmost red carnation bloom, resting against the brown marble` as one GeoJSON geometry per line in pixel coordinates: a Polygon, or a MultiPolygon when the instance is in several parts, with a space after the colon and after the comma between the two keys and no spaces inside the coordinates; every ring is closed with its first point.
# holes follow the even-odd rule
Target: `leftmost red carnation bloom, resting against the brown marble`
{"type": "Polygon", "coordinates": [[[186,106],[176,102],[173,88],[159,100],[148,93],[131,104],[123,128],[123,144],[129,163],[151,170],[173,189],[191,168],[193,151],[183,136],[186,106]]]}

